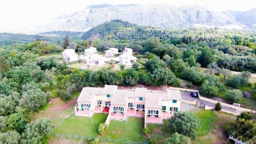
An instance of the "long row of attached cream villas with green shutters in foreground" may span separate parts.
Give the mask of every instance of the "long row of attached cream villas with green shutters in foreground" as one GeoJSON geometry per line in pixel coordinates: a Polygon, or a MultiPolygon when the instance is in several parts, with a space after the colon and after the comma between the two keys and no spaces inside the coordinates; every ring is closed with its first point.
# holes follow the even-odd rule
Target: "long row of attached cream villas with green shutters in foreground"
{"type": "MultiPolygon", "coordinates": [[[[116,85],[84,87],[75,106],[76,116],[92,117],[94,113],[107,113],[110,119],[126,120],[128,116],[145,117],[148,123],[163,124],[180,110],[178,90],[152,91],[147,88],[119,90],[116,85]]],[[[108,121],[108,122],[107,122],[108,121]]]]}

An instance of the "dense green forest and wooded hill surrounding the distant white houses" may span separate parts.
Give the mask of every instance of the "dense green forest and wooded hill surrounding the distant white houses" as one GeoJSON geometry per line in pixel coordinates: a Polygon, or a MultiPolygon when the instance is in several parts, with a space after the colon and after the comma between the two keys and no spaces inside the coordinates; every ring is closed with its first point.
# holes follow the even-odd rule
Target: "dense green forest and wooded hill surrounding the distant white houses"
{"type": "Polygon", "coordinates": [[[256,71],[254,33],[161,29],[113,20],[91,29],[83,39],[65,36],[47,42],[43,37],[21,36],[25,36],[22,41],[5,37],[11,44],[0,47],[0,143],[47,143],[53,124],[49,119],[31,122],[31,115],[51,98],[69,100],[86,86],[194,86],[205,97],[256,109],[256,84],[250,79],[256,71]],[[13,40],[17,43],[12,44],[13,40]],[[138,62],[127,69],[120,65],[119,70],[112,70],[109,64],[87,70],[70,68],[59,57],[63,47],[83,54],[92,45],[101,52],[131,47],[138,62]],[[232,75],[230,70],[241,73],[232,75]],[[242,92],[250,97],[244,98],[242,92]]]}

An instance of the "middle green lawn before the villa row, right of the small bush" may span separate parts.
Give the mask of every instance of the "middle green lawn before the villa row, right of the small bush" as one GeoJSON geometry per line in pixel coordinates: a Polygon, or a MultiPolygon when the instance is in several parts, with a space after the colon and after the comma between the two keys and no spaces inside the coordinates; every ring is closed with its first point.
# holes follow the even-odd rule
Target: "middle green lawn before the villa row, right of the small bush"
{"type": "Polygon", "coordinates": [[[139,117],[128,117],[127,121],[111,120],[103,137],[121,140],[122,142],[128,140],[145,141],[145,137],[142,134],[143,121],[144,119],[139,117]]]}

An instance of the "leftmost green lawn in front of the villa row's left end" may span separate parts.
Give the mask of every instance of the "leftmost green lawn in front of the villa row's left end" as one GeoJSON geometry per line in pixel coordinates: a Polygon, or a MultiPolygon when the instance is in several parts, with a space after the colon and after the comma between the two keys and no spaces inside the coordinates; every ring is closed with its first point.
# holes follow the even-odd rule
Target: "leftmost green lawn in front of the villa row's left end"
{"type": "Polygon", "coordinates": [[[104,123],[107,114],[94,114],[90,117],[71,115],[54,132],[68,135],[81,135],[86,137],[98,137],[98,126],[104,123]]]}

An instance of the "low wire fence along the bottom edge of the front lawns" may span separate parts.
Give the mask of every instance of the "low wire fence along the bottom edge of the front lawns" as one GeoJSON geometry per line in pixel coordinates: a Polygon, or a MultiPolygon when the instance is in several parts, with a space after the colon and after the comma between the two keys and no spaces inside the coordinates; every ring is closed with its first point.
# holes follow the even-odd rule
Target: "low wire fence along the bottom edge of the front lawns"
{"type": "Polygon", "coordinates": [[[110,143],[121,143],[121,144],[140,144],[140,143],[148,143],[147,139],[145,140],[138,140],[138,141],[132,141],[127,140],[124,141],[122,139],[110,139],[110,138],[103,138],[103,137],[88,137],[85,135],[74,135],[74,134],[60,134],[60,133],[54,133],[53,137],[60,137],[65,139],[78,139],[78,140],[85,140],[85,141],[93,141],[94,139],[99,139],[101,142],[110,142],[110,143]]]}

